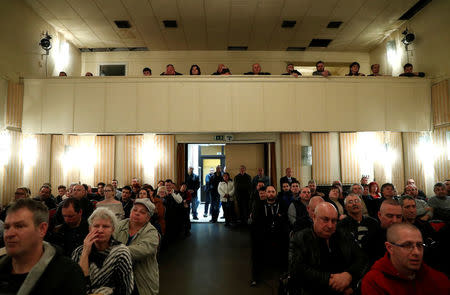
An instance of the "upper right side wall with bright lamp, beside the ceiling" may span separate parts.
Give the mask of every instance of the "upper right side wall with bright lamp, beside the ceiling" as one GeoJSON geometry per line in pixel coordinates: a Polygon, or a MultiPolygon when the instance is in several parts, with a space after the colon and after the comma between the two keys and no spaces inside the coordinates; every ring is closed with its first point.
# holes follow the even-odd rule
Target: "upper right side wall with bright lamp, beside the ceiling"
{"type": "Polygon", "coordinates": [[[370,52],[370,63],[379,63],[383,74],[399,75],[403,72],[403,65],[407,62],[405,47],[401,43],[401,34],[405,27],[416,35],[416,40],[409,46],[409,62],[415,71],[425,72],[427,75],[441,80],[450,76],[450,1],[435,0],[415,15],[399,30],[393,32],[377,48],[370,52]],[[395,40],[397,51],[401,56],[393,67],[388,64],[386,57],[386,42],[395,40]]]}

